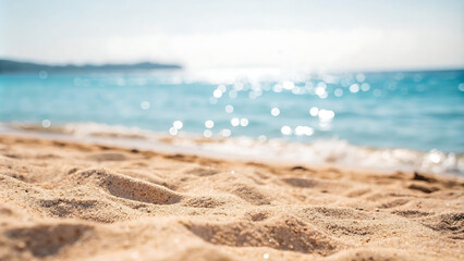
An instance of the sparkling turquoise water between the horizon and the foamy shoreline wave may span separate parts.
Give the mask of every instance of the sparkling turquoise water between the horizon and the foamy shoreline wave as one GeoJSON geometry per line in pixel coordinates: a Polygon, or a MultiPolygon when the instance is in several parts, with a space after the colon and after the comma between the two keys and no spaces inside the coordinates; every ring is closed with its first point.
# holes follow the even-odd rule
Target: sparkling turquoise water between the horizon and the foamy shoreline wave
{"type": "Polygon", "coordinates": [[[0,122],[91,122],[296,142],[337,137],[373,148],[461,153],[464,71],[0,75],[0,122]]]}

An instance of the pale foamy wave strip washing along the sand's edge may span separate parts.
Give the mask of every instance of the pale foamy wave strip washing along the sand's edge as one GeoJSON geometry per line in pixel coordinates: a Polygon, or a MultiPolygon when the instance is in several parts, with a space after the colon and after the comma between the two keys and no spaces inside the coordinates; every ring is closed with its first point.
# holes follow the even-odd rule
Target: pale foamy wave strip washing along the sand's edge
{"type": "MultiPolygon", "coordinates": [[[[212,137],[180,132],[176,136],[155,133],[138,127],[114,126],[98,123],[69,123],[42,127],[35,124],[8,124],[4,129],[28,134],[49,134],[53,137],[72,137],[78,141],[108,141],[119,146],[169,152],[202,153],[213,157],[288,162],[300,164],[334,164],[383,171],[422,171],[464,175],[464,154],[445,153],[432,149],[379,149],[352,145],[339,138],[318,139],[313,142],[289,142],[281,138],[212,137]],[[90,140],[91,138],[91,140],[90,140]],[[162,145],[162,146],[161,146],[162,145]]],[[[0,129],[1,130],[1,129],[0,129]]],[[[0,133],[2,133],[0,132],[0,133]]]]}

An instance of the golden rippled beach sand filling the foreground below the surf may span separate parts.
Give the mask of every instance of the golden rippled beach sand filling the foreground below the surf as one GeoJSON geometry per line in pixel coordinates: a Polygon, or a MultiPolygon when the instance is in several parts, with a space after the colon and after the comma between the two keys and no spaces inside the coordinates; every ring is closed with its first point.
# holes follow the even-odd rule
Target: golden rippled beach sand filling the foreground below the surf
{"type": "Polygon", "coordinates": [[[0,136],[0,260],[464,260],[464,181],[0,136]]]}

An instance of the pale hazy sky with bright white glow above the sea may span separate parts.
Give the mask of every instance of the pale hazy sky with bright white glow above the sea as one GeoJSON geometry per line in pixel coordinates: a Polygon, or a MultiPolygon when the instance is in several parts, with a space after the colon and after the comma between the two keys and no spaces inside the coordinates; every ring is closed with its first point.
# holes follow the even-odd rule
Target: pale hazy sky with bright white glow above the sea
{"type": "Polygon", "coordinates": [[[464,1],[0,0],[0,58],[190,69],[463,69],[464,1]]]}

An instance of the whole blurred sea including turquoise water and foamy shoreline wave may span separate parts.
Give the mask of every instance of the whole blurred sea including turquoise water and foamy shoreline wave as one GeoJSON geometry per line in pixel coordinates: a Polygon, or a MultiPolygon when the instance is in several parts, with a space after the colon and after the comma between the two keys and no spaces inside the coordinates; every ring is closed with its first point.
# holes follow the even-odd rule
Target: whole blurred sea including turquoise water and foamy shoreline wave
{"type": "Polygon", "coordinates": [[[0,74],[0,134],[464,175],[464,70],[0,74]]]}

